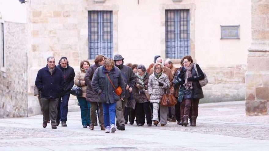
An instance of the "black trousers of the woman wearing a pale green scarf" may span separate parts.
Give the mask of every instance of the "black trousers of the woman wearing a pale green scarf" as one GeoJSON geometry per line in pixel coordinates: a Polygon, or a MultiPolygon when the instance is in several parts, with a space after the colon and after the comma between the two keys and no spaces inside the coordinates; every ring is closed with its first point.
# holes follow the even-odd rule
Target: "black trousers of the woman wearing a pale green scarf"
{"type": "Polygon", "coordinates": [[[150,102],[145,103],[136,103],[135,104],[135,115],[136,115],[136,124],[145,124],[145,114],[147,119],[147,124],[152,124],[151,121],[151,109],[150,102]]]}

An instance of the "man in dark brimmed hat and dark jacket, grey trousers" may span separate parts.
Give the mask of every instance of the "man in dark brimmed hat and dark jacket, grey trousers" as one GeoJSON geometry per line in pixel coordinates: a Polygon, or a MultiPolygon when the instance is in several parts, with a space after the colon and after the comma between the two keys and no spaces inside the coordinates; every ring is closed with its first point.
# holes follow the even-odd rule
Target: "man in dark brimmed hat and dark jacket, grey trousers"
{"type": "Polygon", "coordinates": [[[114,61],[115,66],[118,67],[121,71],[121,74],[125,83],[125,97],[123,100],[120,100],[116,104],[116,117],[117,117],[117,128],[120,130],[125,130],[125,119],[124,119],[124,107],[127,99],[130,97],[130,93],[135,88],[136,76],[132,68],[123,65],[123,57],[121,55],[115,55],[114,61]]]}

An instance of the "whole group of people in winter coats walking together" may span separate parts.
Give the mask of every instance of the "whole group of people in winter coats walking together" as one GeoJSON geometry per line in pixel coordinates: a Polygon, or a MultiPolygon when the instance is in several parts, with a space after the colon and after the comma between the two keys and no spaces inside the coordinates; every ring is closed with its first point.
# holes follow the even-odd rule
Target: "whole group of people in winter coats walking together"
{"type": "Polygon", "coordinates": [[[74,84],[82,88],[77,99],[83,128],[89,126],[93,130],[97,117],[106,133],[125,130],[128,121],[131,125],[136,121],[138,126],[145,123],[165,126],[168,121],[187,126],[190,119],[190,125],[196,126],[199,99],[204,97],[199,80],[205,77],[191,56],[183,57],[179,68],[160,56],[155,56],[147,69],[142,64],[124,65],[123,60],[119,54],[113,59],[97,55],[93,65],[81,61],[75,74],[66,57],[57,66],[55,58],[48,57],[46,67],[38,71],[35,81],[43,127],[51,121],[52,128],[57,128],[60,120],[62,126],[67,126],[68,100],[74,84]],[[160,100],[164,94],[173,95],[177,104],[162,106],[160,100]]]}

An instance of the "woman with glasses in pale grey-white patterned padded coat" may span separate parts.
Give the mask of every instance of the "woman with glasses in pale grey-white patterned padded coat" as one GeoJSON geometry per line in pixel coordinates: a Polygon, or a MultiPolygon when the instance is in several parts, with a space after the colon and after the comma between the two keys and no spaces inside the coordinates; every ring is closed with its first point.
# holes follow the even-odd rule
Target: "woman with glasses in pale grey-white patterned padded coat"
{"type": "MultiPolygon", "coordinates": [[[[153,105],[153,124],[157,126],[159,123],[159,103],[164,93],[169,92],[170,81],[168,76],[163,73],[163,66],[161,63],[154,64],[153,69],[154,73],[149,76],[148,93],[150,95],[149,101],[153,105]],[[168,92],[166,92],[166,89],[168,92]]],[[[167,113],[168,107],[160,106],[161,126],[167,124],[167,113]]]]}

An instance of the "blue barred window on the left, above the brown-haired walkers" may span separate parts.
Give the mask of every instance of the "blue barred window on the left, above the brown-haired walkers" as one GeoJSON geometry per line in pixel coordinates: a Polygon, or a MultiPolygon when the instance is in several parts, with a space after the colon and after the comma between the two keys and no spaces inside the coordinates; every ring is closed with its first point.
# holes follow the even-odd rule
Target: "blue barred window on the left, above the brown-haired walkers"
{"type": "Polygon", "coordinates": [[[88,11],[89,59],[113,56],[112,11],[88,11]]]}

